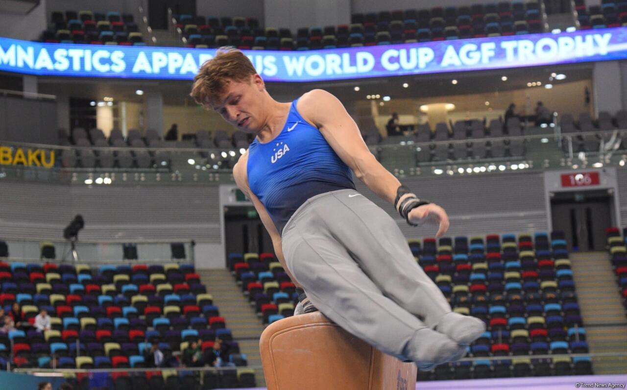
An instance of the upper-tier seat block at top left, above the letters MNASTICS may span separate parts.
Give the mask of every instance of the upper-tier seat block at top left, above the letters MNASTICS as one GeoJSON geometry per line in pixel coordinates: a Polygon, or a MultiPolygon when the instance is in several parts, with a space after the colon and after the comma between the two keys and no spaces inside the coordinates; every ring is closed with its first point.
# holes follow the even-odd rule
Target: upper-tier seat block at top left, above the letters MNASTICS
{"type": "Polygon", "coordinates": [[[48,43],[89,43],[91,45],[144,46],[132,14],[110,11],[55,11],[50,26],[41,34],[48,43]]]}

